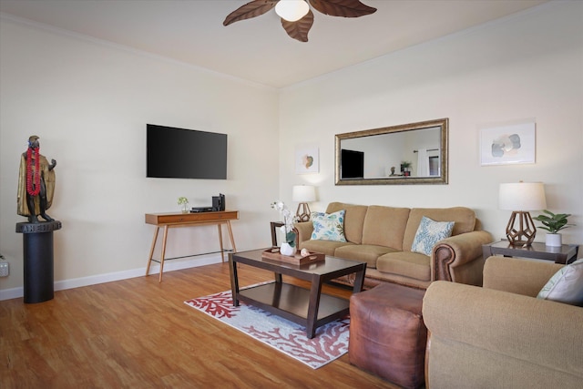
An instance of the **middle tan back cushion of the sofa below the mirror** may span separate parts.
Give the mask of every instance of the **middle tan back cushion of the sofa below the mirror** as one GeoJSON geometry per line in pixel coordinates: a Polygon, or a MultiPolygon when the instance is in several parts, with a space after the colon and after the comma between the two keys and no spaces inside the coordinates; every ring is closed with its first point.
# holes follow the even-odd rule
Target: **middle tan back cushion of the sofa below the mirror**
{"type": "Polygon", "coordinates": [[[386,246],[402,251],[408,218],[408,208],[371,205],[364,217],[363,244],[386,246]]]}

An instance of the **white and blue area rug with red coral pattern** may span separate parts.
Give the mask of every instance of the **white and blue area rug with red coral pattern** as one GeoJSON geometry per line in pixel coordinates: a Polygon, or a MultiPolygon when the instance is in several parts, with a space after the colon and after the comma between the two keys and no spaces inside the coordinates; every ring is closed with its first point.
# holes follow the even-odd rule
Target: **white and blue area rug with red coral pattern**
{"type": "Polygon", "coordinates": [[[308,339],[305,328],[295,322],[244,302],[240,302],[238,307],[233,307],[230,291],[199,297],[185,303],[307,364],[312,369],[322,367],[348,352],[350,326],[348,317],[318,327],[316,336],[308,339]]]}

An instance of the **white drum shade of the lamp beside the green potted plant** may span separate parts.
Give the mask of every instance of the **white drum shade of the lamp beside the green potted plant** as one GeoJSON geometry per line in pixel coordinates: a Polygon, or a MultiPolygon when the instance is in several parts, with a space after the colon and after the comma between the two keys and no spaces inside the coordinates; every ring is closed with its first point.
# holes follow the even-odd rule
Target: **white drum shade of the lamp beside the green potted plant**
{"type": "Polygon", "coordinates": [[[498,193],[500,210],[545,210],[547,198],[542,182],[517,182],[500,184],[498,193]]]}

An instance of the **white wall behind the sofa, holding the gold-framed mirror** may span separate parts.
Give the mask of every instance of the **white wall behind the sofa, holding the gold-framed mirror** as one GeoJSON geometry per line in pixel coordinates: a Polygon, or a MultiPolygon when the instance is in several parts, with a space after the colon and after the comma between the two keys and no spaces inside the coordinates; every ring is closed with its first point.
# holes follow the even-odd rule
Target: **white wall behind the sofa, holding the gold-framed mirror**
{"type": "MultiPolygon", "coordinates": [[[[542,181],[547,208],[572,213],[567,243],[583,243],[583,2],[552,2],[281,91],[281,198],[314,183],[332,200],[404,207],[463,205],[504,236],[502,182],[542,181]],[[449,184],[334,186],[334,134],[450,119],[449,184]],[[534,118],[537,161],[482,167],[479,131],[534,118]],[[320,148],[320,173],[297,176],[297,144],[320,148]]],[[[535,212],[536,213],[536,212],[535,212]]],[[[537,241],[544,241],[539,230],[537,241]]]]}

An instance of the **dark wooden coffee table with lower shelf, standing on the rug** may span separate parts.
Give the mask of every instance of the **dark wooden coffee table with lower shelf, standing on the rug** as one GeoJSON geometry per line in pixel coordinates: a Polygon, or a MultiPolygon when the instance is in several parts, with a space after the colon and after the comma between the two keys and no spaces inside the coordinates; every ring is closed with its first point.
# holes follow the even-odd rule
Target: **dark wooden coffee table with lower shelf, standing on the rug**
{"type": "Polygon", "coordinates": [[[353,292],[363,290],[366,262],[326,256],[324,261],[293,265],[263,259],[261,258],[262,251],[241,251],[229,254],[230,288],[234,306],[239,306],[240,301],[248,302],[262,310],[297,322],[306,327],[306,336],[310,339],[314,337],[316,328],[343,318],[349,312],[348,300],[322,293],[323,282],[355,273],[353,292]],[[241,290],[237,278],[237,263],[273,271],[275,281],[241,290]],[[311,288],[308,290],[282,282],[282,274],[312,282],[311,288]]]}

